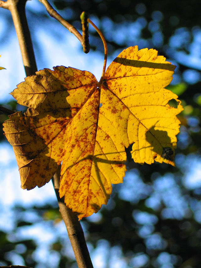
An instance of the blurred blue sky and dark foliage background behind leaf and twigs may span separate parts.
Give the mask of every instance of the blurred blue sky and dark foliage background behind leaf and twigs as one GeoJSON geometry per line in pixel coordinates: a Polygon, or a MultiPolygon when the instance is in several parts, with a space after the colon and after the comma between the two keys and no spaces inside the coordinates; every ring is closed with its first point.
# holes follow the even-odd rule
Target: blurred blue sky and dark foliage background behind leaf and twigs
{"type": "MultiPolygon", "coordinates": [[[[108,205],[81,221],[95,268],[201,267],[201,25],[199,1],[54,0],[54,8],[81,28],[82,11],[100,27],[108,65],[128,46],[158,50],[177,65],[168,87],[182,100],[176,167],[132,161],[108,205]]],[[[89,54],[37,0],[26,14],[38,69],[57,65],[88,70],[99,79],[103,45],[90,27],[89,54]]],[[[23,110],[9,92],[25,73],[11,15],[0,9],[0,104],[23,110]]],[[[3,123],[8,117],[0,114],[3,123]]],[[[0,265],[77,267],[50,181],[20,189],[12,147],[0,133],[0,265]]]]}

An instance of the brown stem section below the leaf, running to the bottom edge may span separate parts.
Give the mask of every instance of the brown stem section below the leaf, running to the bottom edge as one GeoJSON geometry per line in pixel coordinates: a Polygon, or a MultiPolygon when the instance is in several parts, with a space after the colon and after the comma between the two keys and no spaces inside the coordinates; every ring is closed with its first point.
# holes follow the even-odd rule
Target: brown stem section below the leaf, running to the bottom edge
{"type": "Polygon", "coordinates": [[[84,232],[82,226],[78,220],[78,217],[69,209],[64,203],[64,198],[59,196],[59,182],[60,182],[60,171],[61,165],[57,169],[57,172],[52,178],[52,183],[54,185],[54,190],[57,195],[57,200],[59,204],[59,211],[65,222],[66,229],[68,231],[68,237],[70,239],[75,259],[77,261],[79,268],[93,268],[90,254],[87,248],[87,244],[84,238],[84,232]]]}

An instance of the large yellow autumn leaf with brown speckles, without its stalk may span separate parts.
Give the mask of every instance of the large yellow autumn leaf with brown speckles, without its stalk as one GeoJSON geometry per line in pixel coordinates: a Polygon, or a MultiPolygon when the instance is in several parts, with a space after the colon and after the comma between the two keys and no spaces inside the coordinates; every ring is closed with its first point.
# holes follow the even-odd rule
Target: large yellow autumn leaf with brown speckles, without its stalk
{"type": "Polygon", "coordinates": [[[130,144],[137,163],[174,165],[182,106],[164,89],[174,68],[156,50],[133,46],[110,64],[103,82],[63,66],[25,78],[11,94],[28,109],[4,123],[21,187],[43,186],[62,162],[60,197],[81,219],[107,204],[112,183],[122,183],[130,144]]]}

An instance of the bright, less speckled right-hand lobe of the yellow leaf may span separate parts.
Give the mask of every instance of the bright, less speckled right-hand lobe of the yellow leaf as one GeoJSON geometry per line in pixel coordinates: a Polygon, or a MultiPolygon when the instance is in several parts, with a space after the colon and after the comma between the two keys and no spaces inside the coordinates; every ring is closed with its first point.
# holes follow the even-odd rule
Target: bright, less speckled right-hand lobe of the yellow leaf
{"type": "MultiPolygon", "coordinates": [[[[138,47],[134,46],[122,51],[106,70],[104,84],[118,96],[130,112],[128,139],[126,141],[124,139],[124,145],[128,147],[128,143],[134,143],[131,154],[133,160],[140,164],[144,162],[151,164],[155,160],[174,165],[173,161],[161,157],[165,147],[170,147],[174,152],[176,135],[179,132],[179,120],[176,115],[182,111],[181,103],[177,95],[164,89],[172,80],[174,68],[175,66],[166,62],[164,57],[157,56],[157,51],[153,49],[138,51],[138,47]],[[171,99],[178,102],[175,110],[173,107],[168,107],[168,101],[171,99]],[[169,118],[177,122],[174,129],[169,129],[165,131],[166,133],[155,133],[156,122],[159,122],[159,126],[162,125],[166,112],[170,111],[169,118]],[[158,113],[161,115],[158,116],[158,113]],[[144,119],[148,119],[146,123],[145,121],[142,123],[144,119]]],[[[170,119],[166,119],[168,120],[170,119]]]]}

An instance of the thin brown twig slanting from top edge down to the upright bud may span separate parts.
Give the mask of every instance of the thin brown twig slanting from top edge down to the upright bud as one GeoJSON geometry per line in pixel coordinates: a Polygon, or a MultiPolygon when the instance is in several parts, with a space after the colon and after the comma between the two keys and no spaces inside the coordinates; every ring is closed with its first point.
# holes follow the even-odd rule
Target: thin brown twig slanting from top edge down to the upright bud
{"type": "Polygon", "coordinates": [[[83,46],[82,35],[79,33],[79,31],[73,25],[71,25],[65,19],[63,19],[62,16],[57,13],[57,11],[51,6],[50,3],[48,3],[47,0],[39,0],[39,1],[45,6],[47,13],[52,18],[58,20],[67,30],[69,30],[70,33],[76,36],[80,41],[81,45],[83,46]]]}

